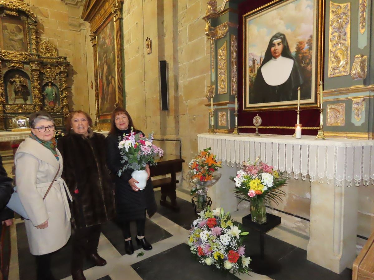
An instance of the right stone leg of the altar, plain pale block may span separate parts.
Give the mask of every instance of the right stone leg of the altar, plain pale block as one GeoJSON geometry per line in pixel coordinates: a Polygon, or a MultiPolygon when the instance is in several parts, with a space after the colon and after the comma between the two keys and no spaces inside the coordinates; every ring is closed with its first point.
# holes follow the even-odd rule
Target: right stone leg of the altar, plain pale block
{"type": "Polygon", "coordinates": [[[307,259],[340,273],[356,258],[358,188],[311,185],[307,259]]]}

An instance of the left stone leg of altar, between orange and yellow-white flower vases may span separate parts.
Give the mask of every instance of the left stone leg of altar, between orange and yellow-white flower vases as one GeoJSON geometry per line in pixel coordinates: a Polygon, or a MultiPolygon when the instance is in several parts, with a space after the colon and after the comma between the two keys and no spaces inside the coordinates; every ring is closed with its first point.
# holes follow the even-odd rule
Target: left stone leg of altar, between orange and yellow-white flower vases
{"type": "Polygon", "coordinates": [[[236,211],[236,197],[233,193],[234,183],[230,180],[230,177],[236,174],[236,169],[222,165],[220,168],[221,179],[212,187],[208,189],[208,196],[212,199],[211,208],[222,207],[225,212],[236,211]]]}

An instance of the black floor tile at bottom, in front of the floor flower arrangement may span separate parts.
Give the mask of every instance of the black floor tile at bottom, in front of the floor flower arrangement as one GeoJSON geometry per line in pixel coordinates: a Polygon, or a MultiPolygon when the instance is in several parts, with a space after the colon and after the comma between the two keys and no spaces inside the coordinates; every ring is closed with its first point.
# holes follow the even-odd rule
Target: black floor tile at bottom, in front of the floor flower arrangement
{"type": "Polygon", "coordinates": [[[191,254],[190,246],[185,243],[137,262],[131,267],[145,280],[238,279],[230,273],[214,271],[212,267],[200,264],[191,254]]]}

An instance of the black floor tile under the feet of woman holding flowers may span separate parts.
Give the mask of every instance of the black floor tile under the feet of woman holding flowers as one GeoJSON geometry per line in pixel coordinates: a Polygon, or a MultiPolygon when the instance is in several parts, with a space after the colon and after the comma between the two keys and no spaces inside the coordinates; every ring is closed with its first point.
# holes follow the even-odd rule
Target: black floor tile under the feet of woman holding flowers
{"type": "MultiPolygon", "coordinates": [[[[123,256],[126,255],[125,252],[125,243],[123,239],[122,230],[114,222],[108,222],[107,224],[101,227],[101,232],[107,237],[107,239],[112,243],[112,245],[117,249],[117,251],[123,256]]],[[[131,223],[131,237],[132,244],[134,245],[134,250],[140,249],[141,246],[138,246],[135,242],[135,237],[137,236],[137,226],[135,222],[131,223]]],[[[147,241],[151,244],[159,242],[163,239],[171,237],[172,234],[164,230],[162,227],[159,227],[157,224],[153,223],[150,219],[145,219],[145,237],[147,241]]]]}

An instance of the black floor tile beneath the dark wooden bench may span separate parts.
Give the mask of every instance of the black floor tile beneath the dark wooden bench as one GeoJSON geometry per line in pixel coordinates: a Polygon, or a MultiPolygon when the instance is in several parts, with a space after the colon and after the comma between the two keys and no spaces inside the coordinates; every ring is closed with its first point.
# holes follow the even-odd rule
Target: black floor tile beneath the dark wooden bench
{"type": "Polygon", "coordinates": [[[154,192],[157,202],[157,212],[169,220],[173,221],[177,225],[185,228],[186,230],[191,229],[192,222],[196,219],[195,212],[191,202],[188,202],[184,199],[177,197],[177,204],[180,208],[180,211],[175,212],[170,208],[160,205],[161,192],[154,192]]]}

